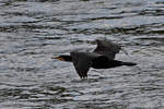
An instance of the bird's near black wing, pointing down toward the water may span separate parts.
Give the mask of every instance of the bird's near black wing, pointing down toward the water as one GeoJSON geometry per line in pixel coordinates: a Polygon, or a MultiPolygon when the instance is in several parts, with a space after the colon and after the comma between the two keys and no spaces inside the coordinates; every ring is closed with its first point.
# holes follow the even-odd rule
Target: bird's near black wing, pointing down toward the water
{"type": "Polygon", "coordinates": [[[72,62],[81,78],[87,77],[87,71],[91,66],[91,59],[84,52],[71,52],[72,62]]]}

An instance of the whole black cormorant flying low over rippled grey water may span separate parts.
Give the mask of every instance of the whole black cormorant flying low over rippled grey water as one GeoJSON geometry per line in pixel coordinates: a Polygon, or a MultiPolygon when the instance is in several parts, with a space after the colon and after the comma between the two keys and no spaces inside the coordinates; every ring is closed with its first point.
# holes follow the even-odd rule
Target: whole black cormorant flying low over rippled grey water
{"type": "Polygon", "coordinates": [[[72,51],[70,56],[63,55],[55,57],[61,61],[73,62],[74,68],[81,78],[87,77],[87,71],[90,68],[94,69],[109,69],[120,65],[136,65],[133,62],[122,62],[115,60],[116,53],[118,53],[121,47],[110,40],[96,40],[97,47],[92,52],[72,51]]]}

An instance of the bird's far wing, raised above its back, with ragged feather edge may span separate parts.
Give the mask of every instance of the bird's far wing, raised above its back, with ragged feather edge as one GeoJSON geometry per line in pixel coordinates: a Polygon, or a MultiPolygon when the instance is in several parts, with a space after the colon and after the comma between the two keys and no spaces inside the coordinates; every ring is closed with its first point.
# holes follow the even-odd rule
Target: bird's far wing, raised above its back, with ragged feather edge
{"type": "Polygon", "coordinates": [[[104,55],[109,59],[115,59],[116,53],[119,52],[121,47],[117,44],[112,43],[110,40],[96,40],[97,47],[93,52],[97,52],[99,55],[104,55]]]}

